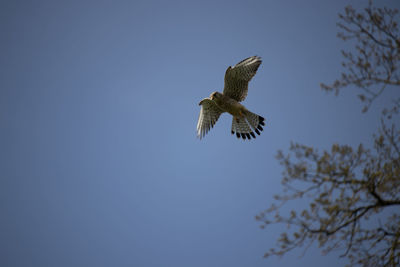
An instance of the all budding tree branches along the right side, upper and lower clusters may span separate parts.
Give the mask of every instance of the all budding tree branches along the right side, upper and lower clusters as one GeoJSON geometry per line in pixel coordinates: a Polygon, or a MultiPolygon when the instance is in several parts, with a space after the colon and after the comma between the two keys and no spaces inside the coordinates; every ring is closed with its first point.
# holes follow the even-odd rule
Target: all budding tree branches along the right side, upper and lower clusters
{"type": "MultiPolygon", "coordinates": [[[[400,90],[398,11],[369,6],[340,14],[343,40],[354,39],[353,52],[342,52],[345,72],[323,90],[355,86],[367,111],[387,86],[400,90]]],[[[277,159],[284,167],[284,193],[258,216],[261,227],[284,223],[278,248],[265,254],[284,255],[316,242],[324,253],[341,249],[351,265],[400,266],[400,98],[382,111],[374,144],[367,149],[333,144],[329,151],[293,143],[277,159]],[[304,201],[303,210],[281,215],[288,201],[304,201]]]]}

